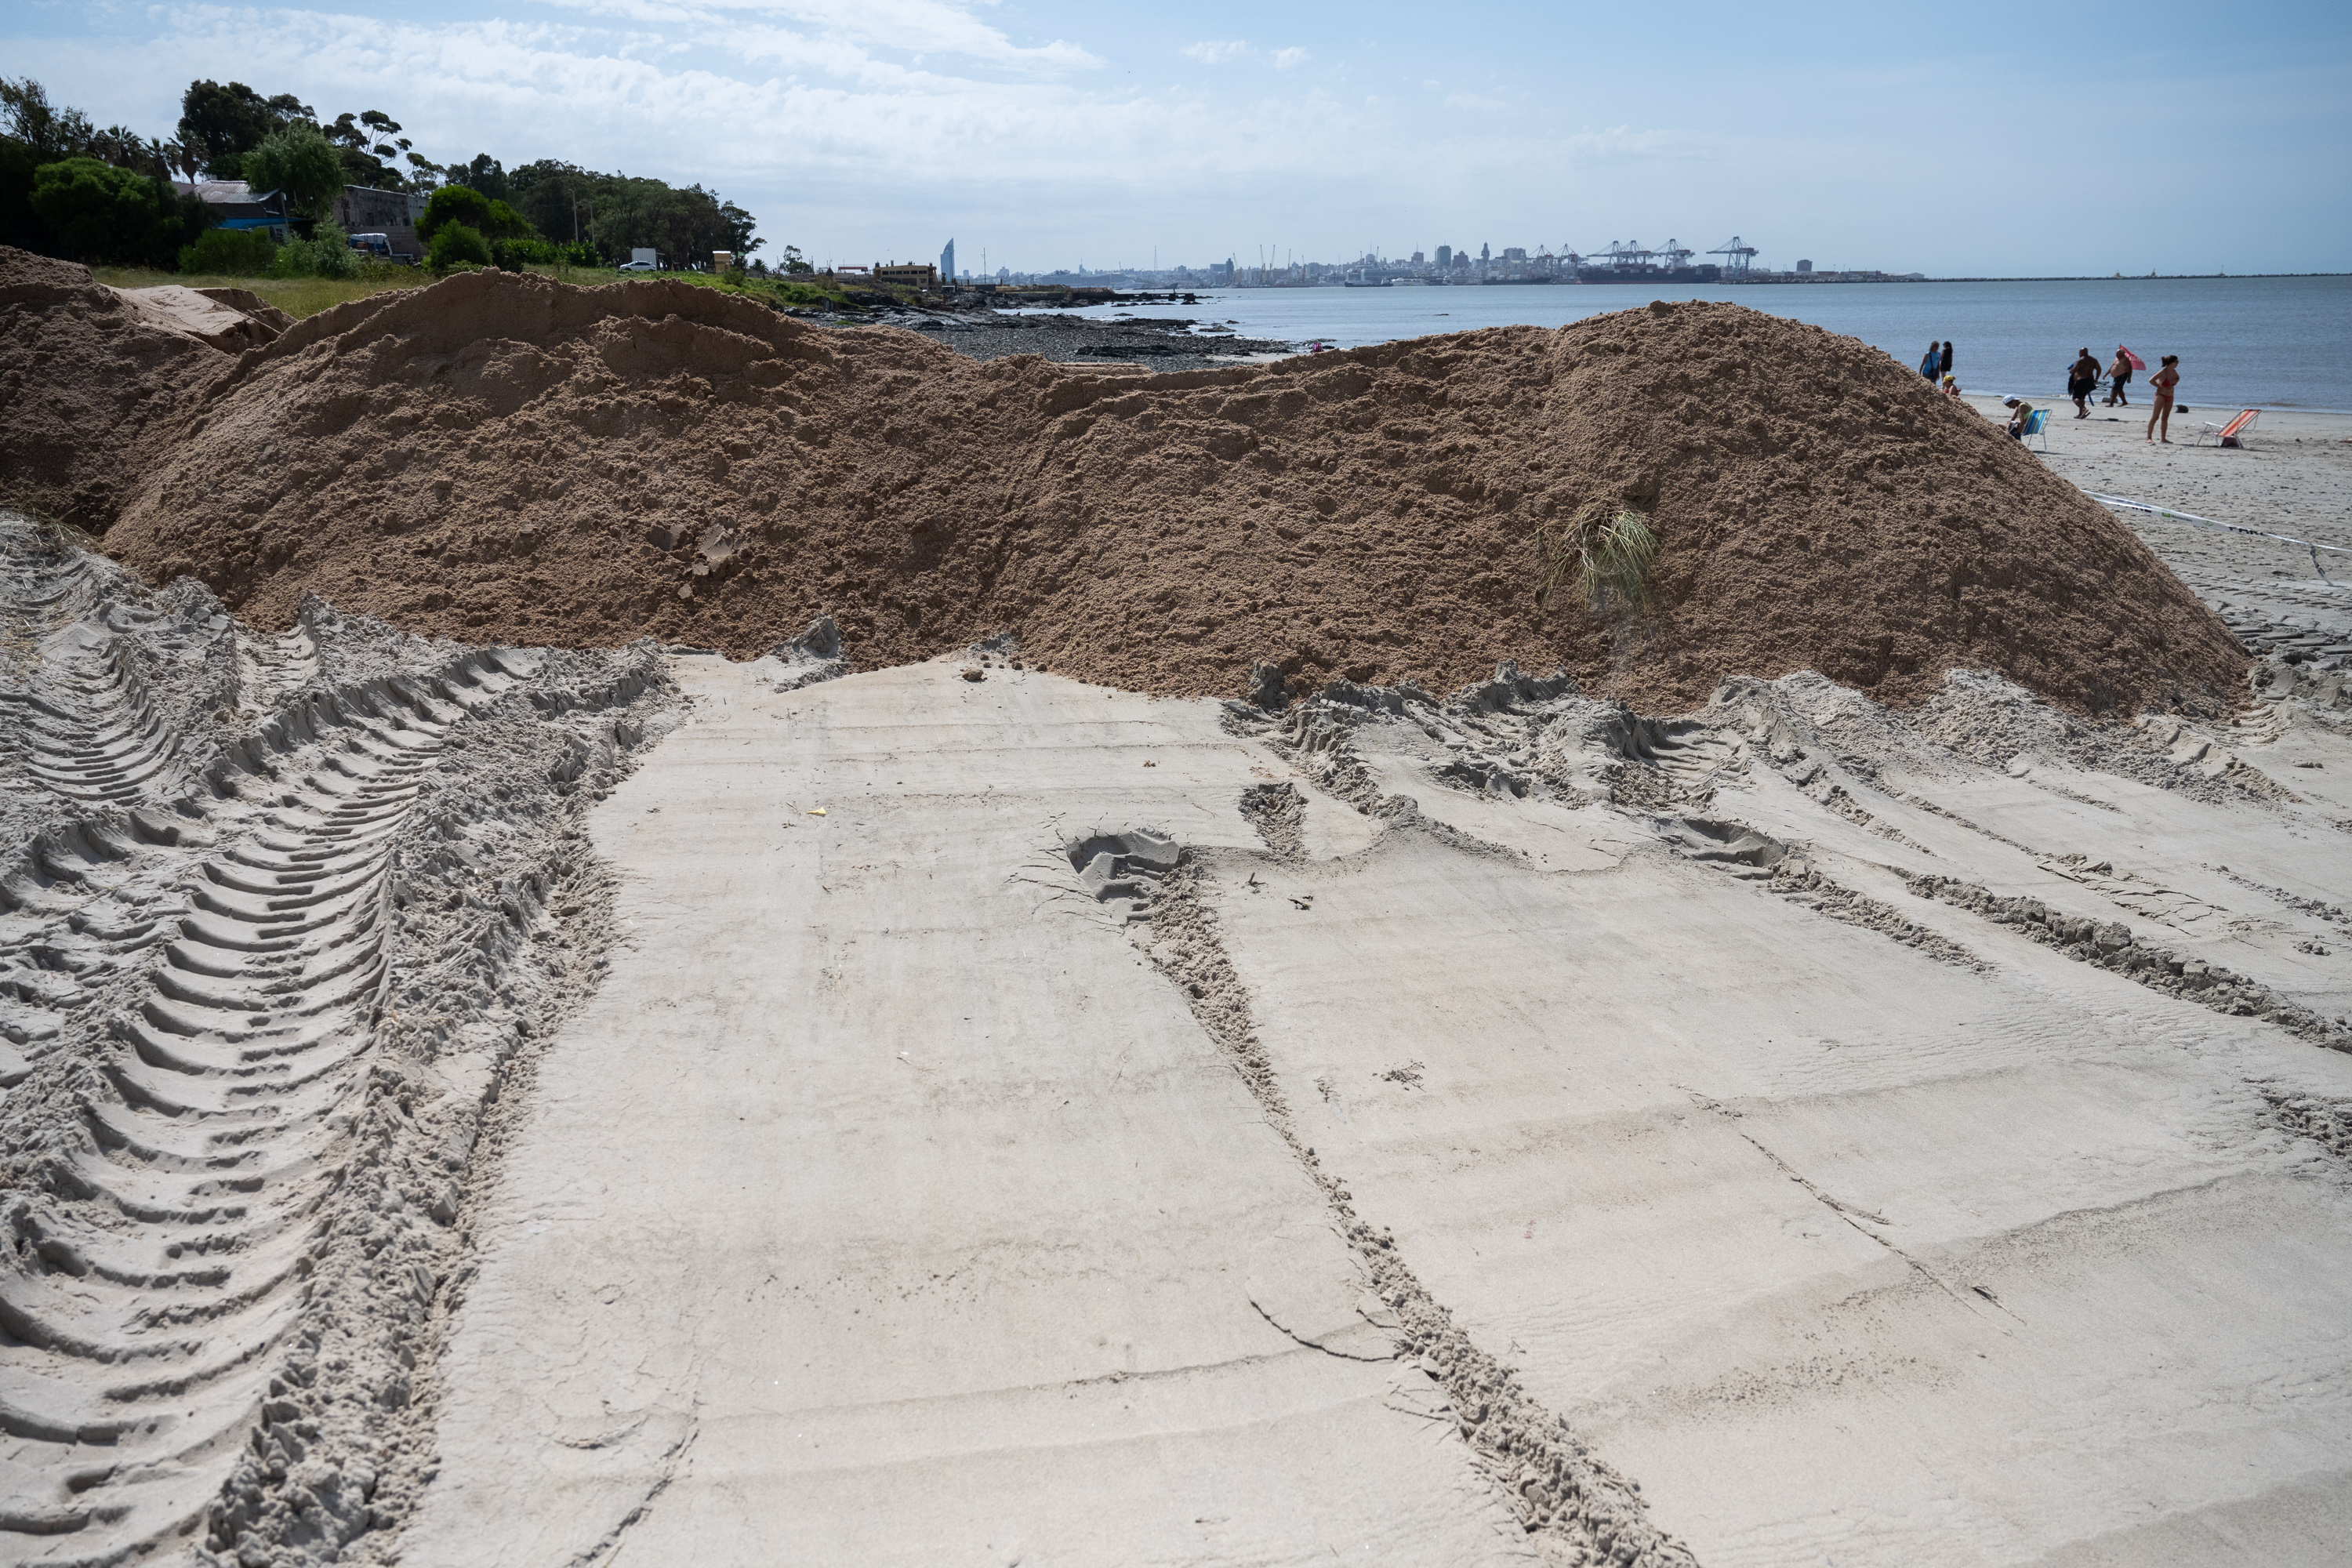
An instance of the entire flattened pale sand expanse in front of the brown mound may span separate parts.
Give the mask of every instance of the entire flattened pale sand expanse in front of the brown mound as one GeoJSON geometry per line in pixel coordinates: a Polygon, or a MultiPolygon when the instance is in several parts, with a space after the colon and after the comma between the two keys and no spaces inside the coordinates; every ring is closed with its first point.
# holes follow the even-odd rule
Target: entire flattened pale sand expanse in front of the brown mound
{"type": "Polygon", "coordinates": [[[1715,811],[1971,973],[1670,860],[1642,813],[1451,792],[1416,726],[1357,731],[1376,788],[1526,860],[1315,790],[1305,858],[1265,856],[1240,790],[1294,773],[1209,703],[677,668],[696,717],[595,818],[633,947],[492,1199],[412,1559],[1498,1552],[1414,1375],[1251,1305],[1324,1272],[1329,1232],[1056,853],[1129,825],[1209,856],[1303,1143],[1698,1561],[2272,1568],[2352,1526],[2352,1190],[2258,1093],[2352,1095],[2352,1060],[1891,870],[2345,1013],[2345,959],[2296,947],[2333,926],[2246,886],[2352,886],[2333,733],[2260,752],[2305,785],[2286,811],[2025,755],[1886,773],[1985,832],[1879,795],[1872,832],[1771,769],[1724,778],[1715,811]]]}

